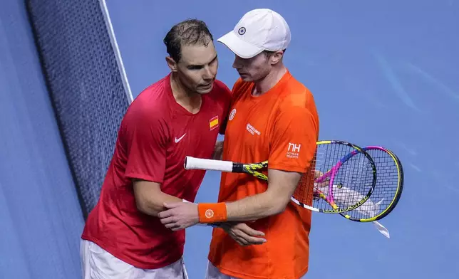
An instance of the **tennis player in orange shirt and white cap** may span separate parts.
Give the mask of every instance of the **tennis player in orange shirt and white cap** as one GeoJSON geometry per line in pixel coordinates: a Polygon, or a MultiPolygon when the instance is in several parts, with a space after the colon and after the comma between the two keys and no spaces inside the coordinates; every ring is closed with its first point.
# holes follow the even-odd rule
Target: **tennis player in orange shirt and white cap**
{"type": "Polygon", "coordinates": [[[282,16],[255,9],[217,40],[234,53],[240,75],[232,88],[222,159],[268,159],[269,182],[222,173],[217,203],[165,205],[161,222],[174,231],[224,222],[212,232],[208,279],[296,279],[308,270],[311,211],[291,203],[290,196],[314,157],[319,117],[313,95],[283,63],[290,39],[282,16]]]}

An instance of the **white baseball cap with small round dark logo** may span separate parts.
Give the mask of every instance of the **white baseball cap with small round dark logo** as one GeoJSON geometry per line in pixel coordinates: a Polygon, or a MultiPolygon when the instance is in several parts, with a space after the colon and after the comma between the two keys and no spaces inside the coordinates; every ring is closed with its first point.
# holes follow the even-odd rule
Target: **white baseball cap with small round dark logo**
{"type": "Polygon", "coordinates": [[[289,25],[280,14],[270,9],[254,9],[217,41],[241,58],[252,58],[262,51],[283,51],[290,40],[289,25]]]}

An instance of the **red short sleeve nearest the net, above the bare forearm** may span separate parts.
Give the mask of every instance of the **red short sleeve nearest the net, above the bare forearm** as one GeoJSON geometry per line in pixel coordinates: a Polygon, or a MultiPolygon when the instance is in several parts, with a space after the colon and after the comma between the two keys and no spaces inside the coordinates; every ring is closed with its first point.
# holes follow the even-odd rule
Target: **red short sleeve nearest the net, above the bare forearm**
{"type": "Polygon", "coordinates": [[[125,177],[162,183],[168,138],[165,120],[155,115],[133,112],[125,124],[125,177]]]}

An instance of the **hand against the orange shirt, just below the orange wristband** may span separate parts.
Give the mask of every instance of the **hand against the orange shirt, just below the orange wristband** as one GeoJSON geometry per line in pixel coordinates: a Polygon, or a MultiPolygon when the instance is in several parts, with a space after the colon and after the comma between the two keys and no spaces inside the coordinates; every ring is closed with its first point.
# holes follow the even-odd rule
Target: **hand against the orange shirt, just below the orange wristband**
{"type": "Polygon", "coordinates": [[[261,238],[264,236],[262,231],[255,231],[246,223],[226,222],[222,223],[220,228],[223,228],[240,246],[260,245],[267,241],[261,238]]]}

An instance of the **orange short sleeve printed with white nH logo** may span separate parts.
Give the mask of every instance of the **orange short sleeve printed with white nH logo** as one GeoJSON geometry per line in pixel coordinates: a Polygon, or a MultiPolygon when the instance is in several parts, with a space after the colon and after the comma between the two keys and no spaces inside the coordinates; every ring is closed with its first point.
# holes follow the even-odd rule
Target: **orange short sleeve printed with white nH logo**
{"type": "Polygon", "coordinates": [[[271,135],[269,169],[306,172],[316,152],[318,123],[304,107],[279,113],[271,135]]]}

